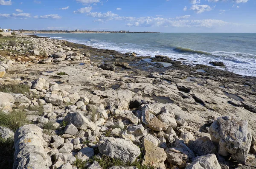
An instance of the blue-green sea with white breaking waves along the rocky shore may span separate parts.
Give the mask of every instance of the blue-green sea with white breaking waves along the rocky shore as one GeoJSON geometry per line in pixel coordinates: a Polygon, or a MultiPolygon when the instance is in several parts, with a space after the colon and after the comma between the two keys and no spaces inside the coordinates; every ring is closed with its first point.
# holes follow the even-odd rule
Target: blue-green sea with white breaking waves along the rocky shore
{"type": "Polygon", "coordinates": [[[165,55],[187,59],[185,64],[210,65],[224,62],[226,68],[243,76],[256,76],[255,33],[160,33],[160,34],[38,34],[65,39],[94,48],[140,56],[165,55]]]}

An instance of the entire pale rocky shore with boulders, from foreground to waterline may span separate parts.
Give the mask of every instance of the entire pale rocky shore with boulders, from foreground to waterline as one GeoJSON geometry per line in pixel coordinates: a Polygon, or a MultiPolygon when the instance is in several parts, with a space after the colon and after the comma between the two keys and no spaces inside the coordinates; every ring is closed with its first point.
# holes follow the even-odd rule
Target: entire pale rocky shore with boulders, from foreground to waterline
{"type": "Polygon", "coordinates": [[[256,168],[255,77],[136,55],[0,37],[0,168],[256,168]]]}

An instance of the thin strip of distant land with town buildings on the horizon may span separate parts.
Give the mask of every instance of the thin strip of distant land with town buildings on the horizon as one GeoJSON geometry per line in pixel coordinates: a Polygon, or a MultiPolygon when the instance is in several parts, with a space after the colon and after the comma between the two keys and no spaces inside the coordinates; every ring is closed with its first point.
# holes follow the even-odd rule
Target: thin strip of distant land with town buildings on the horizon
{"type": "Polygon", "coordinates": [[[29,34],[42,34],[42,33],[151,33],[151,34],[157,34],[159,32],[134,32],[134,31],[90,31],[90,30],[25,30],[25,29],[8,29],[8,28],[0,28],[0,32],[15,32],[15,33],[29,33],[29,34]]]}

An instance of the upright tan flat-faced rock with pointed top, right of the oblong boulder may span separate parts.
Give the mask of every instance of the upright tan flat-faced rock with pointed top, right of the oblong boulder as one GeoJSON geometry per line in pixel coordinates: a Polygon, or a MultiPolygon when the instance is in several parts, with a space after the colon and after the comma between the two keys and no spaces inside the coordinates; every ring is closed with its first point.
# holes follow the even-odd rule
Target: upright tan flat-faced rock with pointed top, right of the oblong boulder
{"type": "Polygon", "coordinates": [[[163,148],[154,145],[151,141],[147,139],[144,140],[143,147],[145,151],[143,165],[154,166],[155,168],[166,168],[164,165],[164,161],[166,160],[167,156],[163,148]]]}

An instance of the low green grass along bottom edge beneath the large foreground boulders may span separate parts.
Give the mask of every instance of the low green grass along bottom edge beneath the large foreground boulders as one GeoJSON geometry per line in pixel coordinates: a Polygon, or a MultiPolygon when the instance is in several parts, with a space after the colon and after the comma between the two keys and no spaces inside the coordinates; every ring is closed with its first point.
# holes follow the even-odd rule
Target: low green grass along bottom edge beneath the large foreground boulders
{"type": "Polygon", "coordinates": [[[124,161],[122,161],[120,159],[113,159],[106,155],[103,155],[102,158],[93,156],[93,158],[88,160],[88,162],[90,162],[90,163],[93,163],[93,161],[97,161],[103,169],[109,169],[112,166],[124,166],[124,167],[125,166],[135,166],[138,169],[154,169],[153,166],[143,166],[141,164],[143,159],[140,157],[138,157],[138,159],[136,161],[134,161],[133,163],[130,163],[130,162],[125,163],[124,161]]]}

